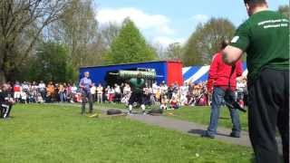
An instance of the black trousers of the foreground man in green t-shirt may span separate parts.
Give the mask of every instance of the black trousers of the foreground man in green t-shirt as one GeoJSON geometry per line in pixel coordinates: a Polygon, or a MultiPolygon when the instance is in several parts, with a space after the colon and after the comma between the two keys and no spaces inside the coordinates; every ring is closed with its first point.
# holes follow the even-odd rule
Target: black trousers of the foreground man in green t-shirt
{"type": "Polygon", "coordinates": [[[265,69],[249,88],[249,136],[257,163],[281,162],[275,140],[279,129],[284,162],[289,162],[289,71],[265,69]]]}

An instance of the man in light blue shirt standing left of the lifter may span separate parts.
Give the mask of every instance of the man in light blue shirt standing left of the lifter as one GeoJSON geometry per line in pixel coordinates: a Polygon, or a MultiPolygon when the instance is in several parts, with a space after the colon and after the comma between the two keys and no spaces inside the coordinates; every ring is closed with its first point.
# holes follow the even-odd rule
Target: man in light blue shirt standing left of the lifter
{"type": "Polygon", "coordinates": [[[89,101],[89,113],[92,113],[92,80],[90,79],[90,72],[84,72],[83,78],[79,84],[82,91],[82,110],[81,113],[85,113],[85,104],[89,101]]]}

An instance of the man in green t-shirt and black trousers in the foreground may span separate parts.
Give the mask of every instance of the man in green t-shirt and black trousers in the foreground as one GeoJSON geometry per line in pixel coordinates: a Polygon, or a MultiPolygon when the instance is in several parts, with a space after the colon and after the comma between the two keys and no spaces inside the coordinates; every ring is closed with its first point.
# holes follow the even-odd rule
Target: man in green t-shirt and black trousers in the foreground
{"type": "Polygon", "coordinates": [[[249,136],[256,162],[279,162],[275,126],[289,161],[289,20],[268,10],[266,0],[244,0],[249,19],[223,52],[233,64],[247,53],[249,136]]]}

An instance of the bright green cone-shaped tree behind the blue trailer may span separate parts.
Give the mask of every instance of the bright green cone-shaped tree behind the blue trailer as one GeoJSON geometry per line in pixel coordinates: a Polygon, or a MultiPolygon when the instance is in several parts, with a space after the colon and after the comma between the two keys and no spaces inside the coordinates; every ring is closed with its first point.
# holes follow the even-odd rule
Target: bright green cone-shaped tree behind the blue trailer
{"type": "Polygon", "coordinates": [[[122,24],[120,34],[111,44],[106,62],[109,64],[147,62],[154,59],[156,53],[153,48],[146,43],[135,24],[127,18],[122,24]]]}

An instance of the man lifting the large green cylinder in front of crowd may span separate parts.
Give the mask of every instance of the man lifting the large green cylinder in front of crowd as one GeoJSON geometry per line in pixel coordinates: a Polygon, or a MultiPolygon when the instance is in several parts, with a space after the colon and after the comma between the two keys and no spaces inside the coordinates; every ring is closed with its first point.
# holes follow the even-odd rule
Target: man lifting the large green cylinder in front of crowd
{"type": "Polygon", "coordinates": [[[130,80],[131,85],[131,97],[129,100],[129,114],[133,109],[133,103],[138,102],[140,104],[141,109],[143,110],[143,114],[145,114],[145,102],[143,95],[143,88],[145,87],[145,81],[141,78],[141,73],[138,73],[137,78],[132,78],[130,80]]]}

